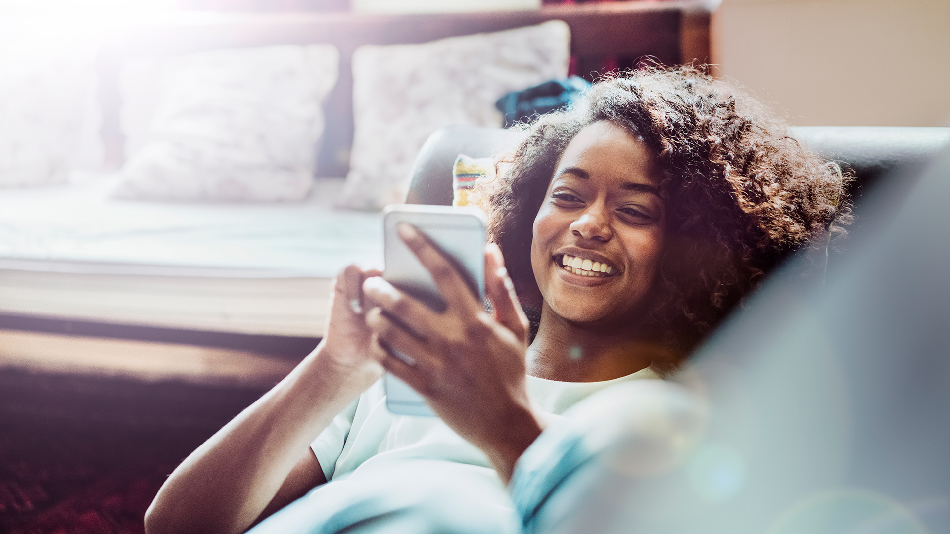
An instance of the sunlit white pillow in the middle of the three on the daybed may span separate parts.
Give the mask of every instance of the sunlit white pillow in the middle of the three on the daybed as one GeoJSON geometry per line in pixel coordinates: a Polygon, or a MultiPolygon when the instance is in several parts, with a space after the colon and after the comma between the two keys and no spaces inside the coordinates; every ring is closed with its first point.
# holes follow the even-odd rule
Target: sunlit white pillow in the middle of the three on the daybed
{"type": "Polygon", "coordinates": [[[151,117],[147,133],[135,127],[127,132],[122,180],[112,195],[304,199],[323,133],[322,103],[336,83],[338,64],[336,48],[311,45],[214,50],[126,65],[123,127],[151,117]]]}

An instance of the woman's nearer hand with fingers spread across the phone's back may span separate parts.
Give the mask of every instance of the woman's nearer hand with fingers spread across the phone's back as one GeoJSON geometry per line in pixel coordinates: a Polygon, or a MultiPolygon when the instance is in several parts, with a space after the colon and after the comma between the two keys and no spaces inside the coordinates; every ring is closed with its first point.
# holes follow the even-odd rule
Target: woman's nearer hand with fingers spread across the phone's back
{"type": "Polygon", "coordinates": [[[507,481],[542,425],[525,388],[527,319],[501,251],[494,244],[485,251],[489,315],[428,238],[409,224],[400,225],[399,235],[432,275],[447,308],[434,312],[382,278],[367,278],[363,288],[374,305],[366,315],[374,333],[372,349],[388,371],[426,397],[448,426],[484,450],[507,481]],[[412,365],[385,347],[409,355],[412,365]]]}

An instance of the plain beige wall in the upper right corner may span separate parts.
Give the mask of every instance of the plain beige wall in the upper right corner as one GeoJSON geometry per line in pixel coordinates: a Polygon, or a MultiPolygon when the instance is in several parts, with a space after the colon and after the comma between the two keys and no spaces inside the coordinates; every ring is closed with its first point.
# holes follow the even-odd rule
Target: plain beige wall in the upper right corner
{"type": "Polygon", "coordinates": [[[718,74],[791,124],[950,125],[950,0],[723,0],[718,74]]]}

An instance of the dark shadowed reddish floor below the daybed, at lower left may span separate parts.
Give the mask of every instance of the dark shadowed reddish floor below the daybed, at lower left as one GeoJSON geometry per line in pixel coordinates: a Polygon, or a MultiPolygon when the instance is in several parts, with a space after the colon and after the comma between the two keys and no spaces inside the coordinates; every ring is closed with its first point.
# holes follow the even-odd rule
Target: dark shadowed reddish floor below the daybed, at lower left
{"type": "Polygon", "coordinates": [[[0,533],[142,533],[165,477],[263,390],[0,372],[0,533]]]}

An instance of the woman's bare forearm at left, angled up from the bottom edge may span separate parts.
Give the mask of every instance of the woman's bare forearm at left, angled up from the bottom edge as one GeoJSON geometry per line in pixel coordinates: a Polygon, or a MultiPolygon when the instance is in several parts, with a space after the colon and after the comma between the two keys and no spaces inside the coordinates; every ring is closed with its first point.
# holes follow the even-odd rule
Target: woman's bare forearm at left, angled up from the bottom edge
{"type": "Polygon", "coordinates": [[[236,533],[257,519],[317,433],[364,388],[352,370],[321,358],[323,349],[175,469],[146,513],[149,534],[236,533]]]}

